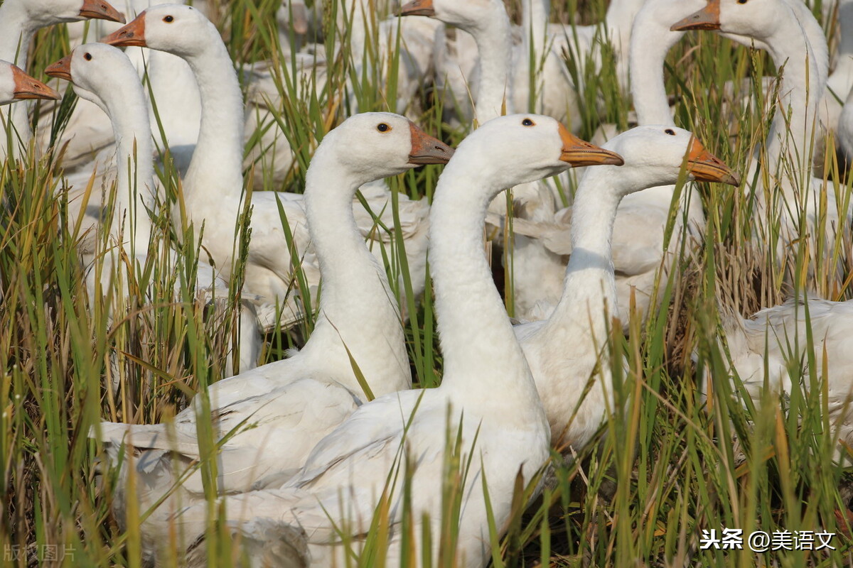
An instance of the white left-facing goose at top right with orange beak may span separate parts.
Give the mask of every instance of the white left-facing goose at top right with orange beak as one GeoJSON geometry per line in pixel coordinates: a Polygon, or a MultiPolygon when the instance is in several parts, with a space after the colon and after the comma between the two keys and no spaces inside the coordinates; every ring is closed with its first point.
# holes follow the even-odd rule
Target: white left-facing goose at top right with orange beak
{"type": "MultiPolygon", "coordinates": [[[[768,46],[777,67],[785,66],[780,109],[775,112],[764,148],[756,149],[747,175],[750,182],[758,180],[752,188],[757,199],[758,238],[771,244],[765,223],[780,222],[780,240],[775,243],[780,258],[793,242],[805,242],[805,235],[799,233],[803,216],[809,233],[825,232],[822,238],[830,244],[829,250],[833,249],[838,227],[847,231],[850,225],[850,210],[838,209],[833,186],[812,175],[809,154],[827,77],[826,39],[815,41],[817,34],[806,31],[819,27],[814,16],[791,4],[785,0],[711,0],[704,9],[672,26],[678,31],[719,30],[755,37],[768,46]],[[766,164],[762,171],[766,175],[756,175],[759,162],[766,164]],[[826,211],[821,210],[821,203],[826,204],[826,211]]],[[[812,246],[812,255],[814,249],[812,246]]]]}

